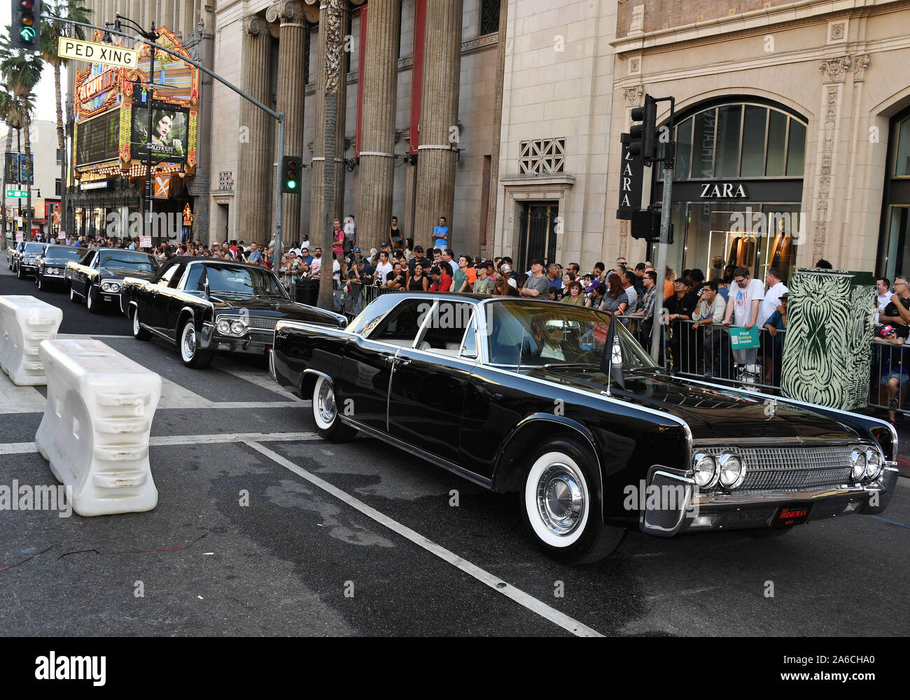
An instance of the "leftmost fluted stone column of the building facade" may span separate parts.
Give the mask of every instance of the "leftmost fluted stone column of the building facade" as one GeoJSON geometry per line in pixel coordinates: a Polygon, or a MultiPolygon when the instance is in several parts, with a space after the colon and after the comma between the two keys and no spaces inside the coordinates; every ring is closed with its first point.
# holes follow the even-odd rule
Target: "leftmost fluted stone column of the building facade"
{"type": "MultiPolygon", "coordinates": [[[[268,105],[268,22],[252,16],[244,20],[243,87],[263,105],[268,105]]],[[[238,174],[238,235],[248,240],[271,239],[268,230],[272,209],[272,118],[240,100],[240,165],[238,174]]]]}

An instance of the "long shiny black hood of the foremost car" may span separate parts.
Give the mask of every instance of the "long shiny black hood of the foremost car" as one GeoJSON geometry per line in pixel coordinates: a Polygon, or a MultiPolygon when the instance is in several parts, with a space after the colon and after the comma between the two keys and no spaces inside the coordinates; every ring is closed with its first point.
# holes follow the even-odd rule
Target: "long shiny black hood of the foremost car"
{"type": "MultiPolygon", "coordinates": [[[[529,375],[593,395],[606,389],[606,375],[581,368],[535,368],[529,375]]],[[[733,390],[687,382],[670,375],[627,376],[625,390],[612,383],[614,398],[652,408],[685,421],[693,440],[767,437],[855,440],[853,428],[799,406],[770,402],[733,390]]]]}

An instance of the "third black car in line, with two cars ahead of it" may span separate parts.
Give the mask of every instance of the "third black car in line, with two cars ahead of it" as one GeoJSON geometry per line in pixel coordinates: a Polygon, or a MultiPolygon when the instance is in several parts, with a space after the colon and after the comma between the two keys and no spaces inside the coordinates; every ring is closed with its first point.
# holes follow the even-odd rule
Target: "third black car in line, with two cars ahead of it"
{"type": "Polygon", "coordinates": [[[69,300],[97,314],[103,306],[123,311],[121,288],[125,277],[150,279],[157,275],[161,263],[154,255],[124,248],[93,248],[79,261],[66,264],[69,300]]]}

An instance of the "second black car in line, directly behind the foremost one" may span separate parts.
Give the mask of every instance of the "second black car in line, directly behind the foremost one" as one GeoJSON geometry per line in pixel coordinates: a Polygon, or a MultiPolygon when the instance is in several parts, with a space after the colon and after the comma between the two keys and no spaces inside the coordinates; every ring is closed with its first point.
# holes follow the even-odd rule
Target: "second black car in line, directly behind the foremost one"
{"type": "Polygon", "coordinates": [[[134,337],[167,339],[189,367],[204,367],[216,351],[265,356],[282,319],[336,328],[348,322],[292,302],[265,267],[208,257],[175,257],[153,279],[127,278],[123,293],[134,337]]]}

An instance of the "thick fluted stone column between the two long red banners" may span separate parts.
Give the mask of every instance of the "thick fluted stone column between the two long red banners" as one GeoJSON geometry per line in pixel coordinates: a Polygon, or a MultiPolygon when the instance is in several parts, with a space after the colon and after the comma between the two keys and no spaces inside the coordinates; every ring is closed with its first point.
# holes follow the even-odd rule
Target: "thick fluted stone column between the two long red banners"
{"type": "MultiPolygon", "coordinates": [[[[360,57],[360,165],[357,176],[358,245],[386,240],[395,185],[395,95],[398,94],[399,0],[369,5],[367,55],[360,57]]],[[[363,31],[363,25],[360,25],[363,31]]]]}

